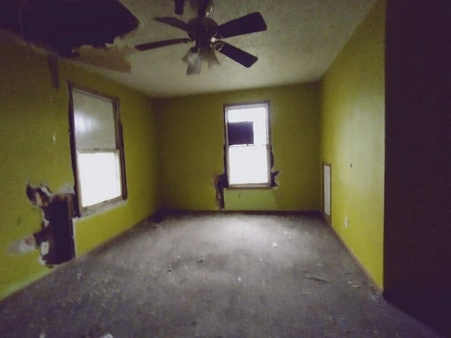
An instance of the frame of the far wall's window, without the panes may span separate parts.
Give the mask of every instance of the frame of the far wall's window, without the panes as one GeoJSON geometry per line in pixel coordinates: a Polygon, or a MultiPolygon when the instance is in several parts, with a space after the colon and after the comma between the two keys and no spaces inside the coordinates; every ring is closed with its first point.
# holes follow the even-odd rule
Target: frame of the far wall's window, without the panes
{"type": "MultiPolygon", "coordinates": [[[[228,189],[268,189],[273,187],[273,178],[271,173],[271,168],[273,167],[273,154],[272,154],[272,143],[271,143],[271,104],[270,101],[254,101],[245,102],[239,104],[224,104],[223,105],[223,119],[224,119],[224,170],[227,177],[227,188],[228,189]],[[230,165],[229,165],[229,140],[228,140],[228,110],[230,108],[252,108],[264,106],[266,108],[266,165],[267,165],[267,177],[266,182],[261,183],[234,183],[230,184],[230,165]]],[[[233,144],[232,146],[237,146],[233,144]]],[[[258,146],[258,145],[247,145],[247,146],[258,146]]]]}

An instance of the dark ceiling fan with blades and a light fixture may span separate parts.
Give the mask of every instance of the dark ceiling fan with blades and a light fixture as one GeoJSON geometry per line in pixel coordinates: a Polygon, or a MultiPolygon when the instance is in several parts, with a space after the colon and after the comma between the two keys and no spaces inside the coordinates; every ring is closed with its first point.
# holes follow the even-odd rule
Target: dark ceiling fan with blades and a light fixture
{"type": "Polygon", "coordinates": [[[257,56],[223,42],[221,39],[266,30],[266,23],[259,12],[250,13],[218,25],[216,21],[207,17],[213,8],[211,0],[192,2],[195,9],[197,9],[197,18],[190,20],[188,23],[173,17],[154,18],[160,23],[184,30],[187,32],[188,37],[137,44],[135,48],[139,51],[147,51],[173,44],[190,44],[194,42],[194,46],[190,48],[182,59],[188,65],[187,75],[199,74],[202,69],[202,61],[206,61],[209,67],[218,64],[219,61],[216,58],[215,50],[247,68],[257,62],[257,56]]]}

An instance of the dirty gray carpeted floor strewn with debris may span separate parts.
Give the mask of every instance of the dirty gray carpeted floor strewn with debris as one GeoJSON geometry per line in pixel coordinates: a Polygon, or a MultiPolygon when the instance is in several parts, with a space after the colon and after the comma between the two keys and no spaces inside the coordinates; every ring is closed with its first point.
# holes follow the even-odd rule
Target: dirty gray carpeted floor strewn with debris
{"type": "Polygon", "coordinates": [[[0,337],[441,337],[385,302],[318,215],[145,222],[0,303],[0,337]]]}

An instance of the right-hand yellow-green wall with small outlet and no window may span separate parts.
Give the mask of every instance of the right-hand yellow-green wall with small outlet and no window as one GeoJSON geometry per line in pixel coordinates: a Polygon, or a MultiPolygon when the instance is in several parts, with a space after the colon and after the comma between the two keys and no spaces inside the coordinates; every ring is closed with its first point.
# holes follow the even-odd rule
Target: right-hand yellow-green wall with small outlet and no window
{"type": "Polygon", "coordinates": [[[332,226],[379,287],[383,286],[384,43],[385,1],[378,1],[321,82],[321,160],[332,168],[332,226]]]}

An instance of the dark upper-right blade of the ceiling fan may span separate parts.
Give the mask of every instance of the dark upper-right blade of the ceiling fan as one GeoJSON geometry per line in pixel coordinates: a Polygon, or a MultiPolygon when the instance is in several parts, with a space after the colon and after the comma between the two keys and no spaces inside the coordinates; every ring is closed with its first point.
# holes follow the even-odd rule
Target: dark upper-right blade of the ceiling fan
{"type": "Polygon", "coordinates": [[[223,39],[242,34],[261,32],[263,30],[266,30],[266,23],[259,12],[254,12],[219,25],[214,30],[214,33],[217,33],[214,34],[214,37],[216,39],[223,39]]]}

